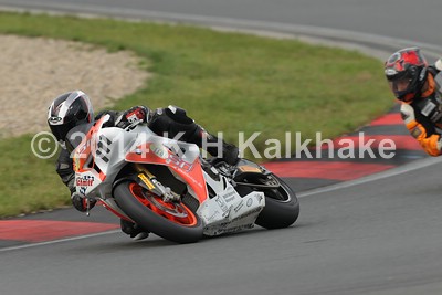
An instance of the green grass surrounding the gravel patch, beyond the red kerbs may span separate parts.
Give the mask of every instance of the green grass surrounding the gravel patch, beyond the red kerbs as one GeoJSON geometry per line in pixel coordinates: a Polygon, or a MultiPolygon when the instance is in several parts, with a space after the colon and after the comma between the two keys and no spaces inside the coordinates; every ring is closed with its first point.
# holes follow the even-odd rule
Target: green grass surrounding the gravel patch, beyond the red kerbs
{"type": "MultiPolygon", "coordinates": [[[[146,87],[116,102],[114,109],[137,104],[151,108],[178,105],[209,131],[223,131],[228,141],[238,144],[239,131],[245,137],[262,133],[255,141],[261,154],[267,138],[283,139],[286,131],[299,131],[304,139],[314,139],[317,131],[323,138],[333,138],[392,106],[380,61],[295,40],[186,25],[4,12],[0,13],[0,33],[75,40],[110,52],[134,51],[144,60],[140,66],[154,76],[146,87]]],[[[52,98],[48,97],[48,103],[52,98]]],[[[54,159],[35,158],[31,138],[0,141],[4,171],[0,217],[69,203],[54,159]]]]}

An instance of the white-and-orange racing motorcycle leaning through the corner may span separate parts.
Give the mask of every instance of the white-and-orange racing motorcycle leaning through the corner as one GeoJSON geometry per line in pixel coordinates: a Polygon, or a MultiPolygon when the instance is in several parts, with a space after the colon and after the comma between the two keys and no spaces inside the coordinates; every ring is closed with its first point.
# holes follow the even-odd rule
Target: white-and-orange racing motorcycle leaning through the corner
{"type": "Polygon", "coordinates": [[[197,145],[160,137],[146,124],[104,127],[108,119],[76,127],[66,146],[77,193],[118,218],[177,243],[296,221],[295,192],[264,167],[203,158],[197,145]]]}

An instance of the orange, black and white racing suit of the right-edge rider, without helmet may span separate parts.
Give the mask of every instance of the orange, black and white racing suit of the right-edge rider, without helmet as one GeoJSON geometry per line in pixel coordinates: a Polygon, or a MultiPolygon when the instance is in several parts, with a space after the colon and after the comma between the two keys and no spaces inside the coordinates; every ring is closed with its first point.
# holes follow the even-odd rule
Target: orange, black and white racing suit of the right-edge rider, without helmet
{"type": "Polygon", "coordinates": [[[427,154],[442,155],[442,93],[439,66],[429,66],[425,86],[411,103],[402,102],[401,116],[410,134],[427,154]]]}

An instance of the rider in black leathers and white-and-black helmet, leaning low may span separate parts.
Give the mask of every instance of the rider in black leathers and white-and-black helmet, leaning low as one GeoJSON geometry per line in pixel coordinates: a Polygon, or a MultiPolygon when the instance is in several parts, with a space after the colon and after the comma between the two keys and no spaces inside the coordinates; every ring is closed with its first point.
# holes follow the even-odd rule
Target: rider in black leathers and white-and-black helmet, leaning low
{"type": "MultiPolygon", "coordinates": [[[[71,191],[72,204],[81,212],[92,209],[96,201],[86,200],[86,198],[76,192],[74,183],[75,172],[73,170],[70,151],[66,149],[65,140],[70,138],[70,130],[74,127],[92,123],[107,114],[110,116],[110,119],[106,123],[105,127],[126,128],[134,120],[145,122],[157,135],[166,135],[169,138],[175,138],[182,134],[182,136],[179,137],[180,140],[197,144],[212,156],[218,156],[230,165],[234,165],[238,161],[238,147],[221,141],[215,136],[207,133],[200,125],[196,124],[193,119],[188,117],[186,110],[182,108],[168,106],[151,112],[146,106],[134,106],[126,112],[104,110],[94,118],[90,97],[82,91],[67,92],[57,96],[50,105],[48,124],[62,147],[56,160],[56,172],[71,191]],[[203,147],[203,143],[210,143],[212,145],[203,147]],[[219,149],[220,146],[214,144],[222,144],[222,146],[219,149]],[[221,151],[221,154],[219,151],[221,151]]],[[[120,225],[122,231],[135,240],[140,240],[148,235],[148,233],[137,226],[137,224],[127,220],[120,219],[120,225]]]]}

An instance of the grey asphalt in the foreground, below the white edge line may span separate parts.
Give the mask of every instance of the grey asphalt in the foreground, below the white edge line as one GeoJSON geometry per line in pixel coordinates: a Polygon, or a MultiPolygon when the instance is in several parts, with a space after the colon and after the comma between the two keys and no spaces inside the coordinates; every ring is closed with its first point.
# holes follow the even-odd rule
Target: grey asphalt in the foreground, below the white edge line
{"type": "Polygon", "coordinates": [[[299,220],[284,230],[189,245],[155,235],[133,242],[110,231],[3,247],[2,292],[441,294],[440,166],[427,167],[423,179],[412,170],[304,196],[299,220]]]}

